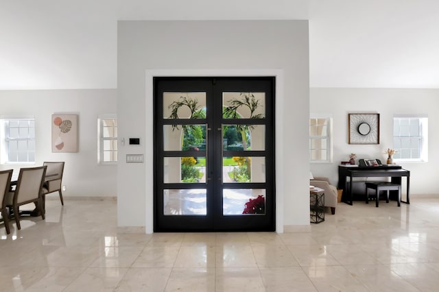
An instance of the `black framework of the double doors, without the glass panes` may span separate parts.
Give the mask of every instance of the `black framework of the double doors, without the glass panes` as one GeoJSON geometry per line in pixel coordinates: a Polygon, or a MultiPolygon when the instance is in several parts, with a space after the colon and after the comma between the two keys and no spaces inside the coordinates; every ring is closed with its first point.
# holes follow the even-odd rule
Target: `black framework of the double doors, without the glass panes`
{"type": "MultiPolygon", "coordinates": [[[[276,191],[275,191],[275,118],[274,118],[274,106],[275,106],[275,77],[154,77],[154,232],[175,232],[175,231],[274,231],[276,228],[276,191]],[[266,208],[267,212],[263,216],[259,215],[249,215],[243,216],[239,215],[240,224],[236,224],[237,216],[224,216],[222,215],[222,196],[215,196],[208,202],[208,210],[213,210],[216,208],[213,214],[209,214],[204,217],[204,223],[201,223],[202,220],[200,216],[161,216],[158,219],[159,212],[163,212],[159,210],[159,206],[163,206],[163,195],[155,195],[163,190],[163,180],[162,182],[158,182],[158,178],[163,178],[163,157],[165,157],[165,151],[163,151],[163,136],[159,132],[163,129],[164,123],[163,119],[163,110],[161,105],[163,104],[161,99],[161,93],[165,90],[161,84],[166,82],[172,82],[178,88],[178,91],[204,91],[207,95],[212,96],[220,96],[221,93],[226,88],[227,91],[236,91],[236,92],[257,92],[257,90],[263,90],[267,93],[268,99],[265,101],[265,119],[262,121],[258,121],[257,119],[227,119],[222,120],[222,111],[211,111],[211,114],[207,119],[197,120],[197,123],[209,123],[209,127],[213,128],[212,125],[215,124],[262,124],[265,125],[265,151],[252,151],[251,156],[265,156],[265,175],[266,180],[265,183],[245,183],[245,184],[226,184],[219,181],[217,178],[212,178],[212,182],[207,186],[208,192],[213,193],[217,188],[266,188],[267,189],[267,197],[266,199],[266,208]],[[252,84],[250,87],[244,86],[246,82],[250,82],[252,84]],[[202,84],[202,88],[200,86],[202,84]],[[255,86],[255,84],[257,84],[255,86]],[[261,84],[261,86],[259,86],[261,84]],[[270,84],[267,88],[267,84],[270,84]],[[211,90],[209,89],[209,85],[213,85],[211,90]],[[224,87],[226,86],[226,87],[224,87]],[[260,88],[259,88],[260,87],[260,88]],[[197,89],[199,88],[199,89],[197,89]],[[161,161],[159,161],[161,160],[161,161]],[[271,161],[269,161],[271,160],[271,161]],[[222,185],[221,185],[222,184],[222,185]],[[221,210],[219,210],[221,209],[221,210]],[[267,219],[269,218],[269,219],[267,219]],[[182,220],[184,219],[184,220],[182,220]],[[166,222],[164,223],[163,220],[166,222]],[[183,222],[185,221],[185,222],[183,222]],[[220,224],[220,226],[215,225],[217,222],[222,221],[224,224],[220,224]],[[171,225],[175,226],[174,228],[163,228],[161,225],[171,225]],[[175,224],[175,225],[174,225],[175,224]],[[216,226],[213,229],[211,226],[216,226]]],[[[166,85],[165,85],[166,87],[166,85]]],[[[222,106],[222,98],[208,98],[206,100],[207,108],[222,106]],[[215,104],[216,103],[216,104],[215,104]]],[[[185,121],[185,119],[181,119],[178,121],[179,123],[193,123],[191,121],[185,121]]],[[[218,145],[222,145],[222,135],[217,133],[217,129],[213,128],[209,131],[209,136],[213,136],[214,142],[212,143],[213,151],[209,151],[209,156],[207,159],[213,161],[210,164],[208,172],[216,171],[217,173],[221,173],[218,167],[222,167],[222,161],[220,156],[216,156],[213,158],[213,153],[217,151],[222,151],[221,149],[217,149],[218,145]],[[217,169],[213,169],[217,167],[217,169]]],[[[224,157],[228,156],[244,156],[250,155],[249,151],[224,151],[224,157]]],[[[168,153],[166,156],[175,156],[178,157],[181,153],[168,153]]],[[[167,188],[206,188],[205,185],[200,184],[185,184],[185,186],[177,185],[177,184],[167,184],[167,188]]]]}

